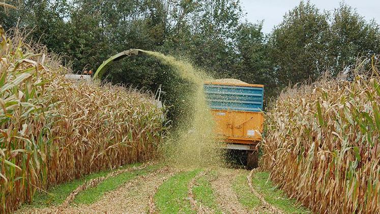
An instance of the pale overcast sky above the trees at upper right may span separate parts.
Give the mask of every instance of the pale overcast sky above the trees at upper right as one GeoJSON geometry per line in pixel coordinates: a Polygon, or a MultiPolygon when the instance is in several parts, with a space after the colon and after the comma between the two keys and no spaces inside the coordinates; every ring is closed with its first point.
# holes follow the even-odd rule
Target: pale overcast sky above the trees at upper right
{"type": "MultiPolygon", "coordinates": [[[[311,0],[321,11],[339,7],[339,0],[311,0]]],[[[347,5],[357,9],[366,19],[380,22],[380,0],[346,0],[347,5]]],[[[262,31],[270,33],[274,25],[281,22],[282,16],[296,7],[300,0],[241,0],[246,19],[250,22],[264,20],[262,31]]]]}

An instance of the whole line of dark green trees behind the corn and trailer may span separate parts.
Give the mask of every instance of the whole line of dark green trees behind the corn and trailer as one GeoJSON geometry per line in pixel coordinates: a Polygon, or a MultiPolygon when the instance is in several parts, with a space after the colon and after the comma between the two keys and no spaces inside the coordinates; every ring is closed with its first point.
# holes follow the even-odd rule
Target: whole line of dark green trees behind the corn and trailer
{"type": "MultiPolygon", "coordinates": [[[[262,32],[263,21],[242,21],[246,14],[239,0],[7,3],[17,9],[0,9],[0,24],[31,29],[28,37],[60,53],[74,71],[96,70],[122,50],[155,50],[187,59],[217,78],[264,84],[267,98],[288,85],[315,81],[326,71],[333,76],[348,72],[358,57],[377,58],[380,53],[378,23],[343,3],[321,11],[301,1],[269,34],[262,32]]],[[[167,81],[162,73],[170,68],[140,58],[114,65],[106,78],[150,89],[167,81]]]]}

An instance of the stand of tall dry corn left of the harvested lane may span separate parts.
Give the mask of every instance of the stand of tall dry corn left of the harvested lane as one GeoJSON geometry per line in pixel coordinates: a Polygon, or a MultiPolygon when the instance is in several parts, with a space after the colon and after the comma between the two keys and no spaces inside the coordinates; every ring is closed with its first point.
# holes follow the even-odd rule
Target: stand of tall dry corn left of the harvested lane
{"type": "Polygon", "coordinates": [[[43,47],[0,33],[0,213],[36,189],[155,154],[162,110],[148,94],[68,81],[43,47]]]}

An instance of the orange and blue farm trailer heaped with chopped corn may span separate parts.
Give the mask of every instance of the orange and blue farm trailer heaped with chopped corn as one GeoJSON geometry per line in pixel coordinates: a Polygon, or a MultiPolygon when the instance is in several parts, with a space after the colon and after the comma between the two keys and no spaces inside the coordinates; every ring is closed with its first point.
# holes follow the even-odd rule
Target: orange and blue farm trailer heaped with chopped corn
{"type": "Polygon", "coordinates": [[[257,144],[264,124],[264,86],[215,81],[205,82],[203,89],[223,148],[243,151],[247,168],[257,167],[257,144]]]}

